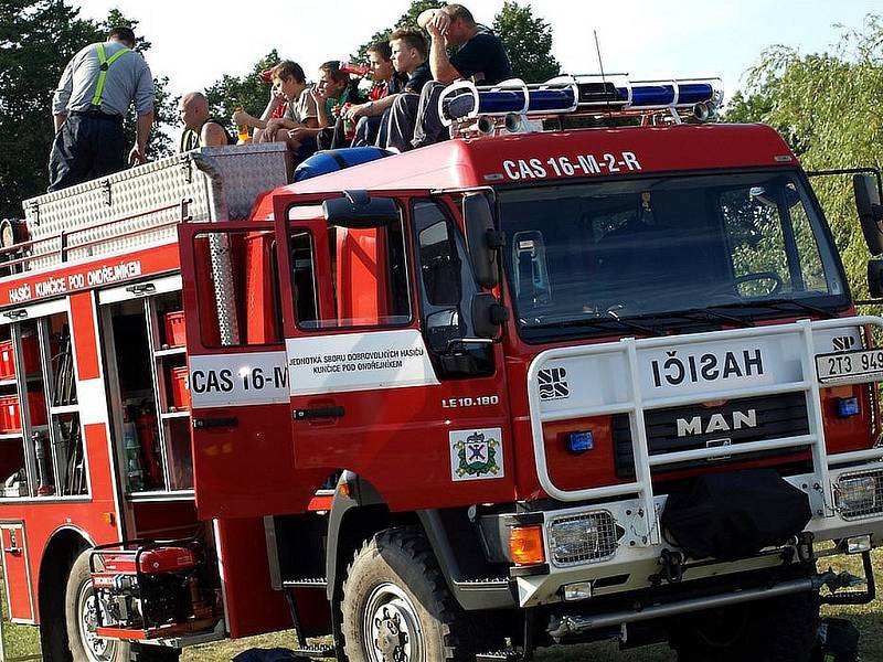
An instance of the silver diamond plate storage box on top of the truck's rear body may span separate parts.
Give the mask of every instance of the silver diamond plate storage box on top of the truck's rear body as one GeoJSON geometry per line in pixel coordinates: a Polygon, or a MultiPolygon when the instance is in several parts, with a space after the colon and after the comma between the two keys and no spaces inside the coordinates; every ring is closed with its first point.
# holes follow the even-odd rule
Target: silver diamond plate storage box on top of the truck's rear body
{"type": "Polygon", "coordinates": [[[288,182],[291,166],[278,143],[202,148],[26,200],[34,243],[22,255],[31,257],[23,269],[172,242],[184,214],[245,218],[259,193],[288,182]]]}

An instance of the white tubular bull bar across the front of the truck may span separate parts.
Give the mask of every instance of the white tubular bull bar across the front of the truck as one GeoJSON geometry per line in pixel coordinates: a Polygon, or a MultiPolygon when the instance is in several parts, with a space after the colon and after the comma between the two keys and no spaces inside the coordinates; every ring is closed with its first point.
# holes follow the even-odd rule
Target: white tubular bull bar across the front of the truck
{"type": "MultiPolygon", "coordinates": [[[[738,456],[757,450],[775,450],[781,448],[809,447],[812,456],[812,471],[817,484],[815,493],[810,495],[813,501],[813,512],[819,515],[833,514],[833,494],[829,480],[829,468],[842,465],[850,460],[873,460],[883,458],[883,448],[866,449],[850,452],[841,458],[839,455],[829,456],[825,445],[825,429],[821,412],[820,384],[816,370],[816,348],[813,332],[826,329],[863,328],[874,325],[883,328],[883,318],[874,316],[860,316],[852,318],[837,318],[830,320],[799,320],[786,324],[769,327],[753,327],[749,329],[730,329],[724,331],[708,331],[702,333],[670,335],[664,338],[648,338],[636,340],[626,338],[618,342],[599,343],[596,345],[581,345],[570,348],[553,348],[540,353],[528,369],[528,399],[531,413],[531,430],[533,437],[534,461],[540,484],[552,496],[565,502],[576,502],[592,499],[608,498],[610,495],[635,494],[642,504],[641,516],[646,519],[648,536],[643,544],[652,544],[658,536],[658,521],[653,501],[652,477],[650,470],[660,465],[672,466],[699,459],[710,459],[720,456],[738,456]],[[641,371],[638,363],[638,352],[647,350],[671,349],[672,352],[681,351],[699,343],[725,343],[736,339],[773,339],[784,334],[795,337],[795,342],[800,346],[794,348],[796,354],[792,359],[800,360],[800,380],[776,382],[755,385],[740,385],[730,388],[715,388],[713,392],[698,388],[675,396],[647,397],[640,382],[641,371]],[[566,407],[560,405],[549,408],[549,401],[540,399],[539,371],[550,366],[556,361],[566,359],[609,357],[606,371],[624,371],[621,383],[615,389],[610,386],[610,395],[606,398],[597,393],[583,403],[568,403],[566,407]],[[618,359],[614,359],[618,356],[618,359]],[[733,446],[712,447],[699,450],[682,450],[667,455],[649,455],[648,435],[645,429],[645,412],[663,407],[702,403],[734,397],[751,397],[772,395],[776,393],[802,393],[807,405],[808,434],[789,437],[779,437],[762,441],[746,441],[733,446]],[[625,399],[623,399],[625,394],[625,399]],[[545,409],[543,408],[545,406],[545,409]],[[546,448],[543,435],[543,425],[549,421],[566,420],[571,418],[589,418],[610,414],[628,414],[631,427],[631,450],[635,461],[636,480],[627,484],[607,484],[584,489],[561,489],[552,479],[546,463],[546,448]]],[[[722,345],[723,348],[723,345],[722,345]]],[[[566,363],[563,364],[566,366],[566,363]]],[[[582,366],[583,370],[586,366],[582,366]]],[[[598,378],[603,378],[599,376],[598,378]]],[[[857,375],[857,383],[880,381],[879,375],[857,375]]],[[[573,388],[573,383],[571,383],[573,388]]]]}

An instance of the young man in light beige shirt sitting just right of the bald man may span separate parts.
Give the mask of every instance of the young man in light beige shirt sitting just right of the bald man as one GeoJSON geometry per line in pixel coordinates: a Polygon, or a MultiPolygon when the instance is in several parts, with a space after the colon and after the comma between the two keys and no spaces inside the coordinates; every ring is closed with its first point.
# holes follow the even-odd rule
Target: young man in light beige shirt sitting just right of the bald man
{"type": "Polygon", "coordinates": [[[257,142],[284,141],[291,149],[297,150],[300,143],[290,139],[288,131],[318,126],[316,99],[307,86],[304,70],[290,60],[285,60],[273,67],[273,87],[274,94],[265,115],[272,115],[276,106],[287,102],[288,107],[283,117],[263,119],[253,117],[244,110],[236,110],[233,114],[233,121],[240,126],[262,129],[256,136],[257,142]]]}

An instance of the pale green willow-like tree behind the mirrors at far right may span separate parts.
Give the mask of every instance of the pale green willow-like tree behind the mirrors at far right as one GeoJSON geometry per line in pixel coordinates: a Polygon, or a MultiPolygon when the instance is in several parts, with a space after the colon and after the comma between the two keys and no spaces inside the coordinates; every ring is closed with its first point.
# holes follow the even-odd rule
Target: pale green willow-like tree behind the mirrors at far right
{"type": "MultiPolygon", "coordinates": [[[[725,119],[763,121],[779,130],[806,170],[883,164],[883,21],[844,32],[832,53],[765,51],[749,72],[725,119]]],[[[812,186],[826,211],[853,290],[866,295],[868,248],[855,217],[848,177],[817,178],[812,186]]]]}

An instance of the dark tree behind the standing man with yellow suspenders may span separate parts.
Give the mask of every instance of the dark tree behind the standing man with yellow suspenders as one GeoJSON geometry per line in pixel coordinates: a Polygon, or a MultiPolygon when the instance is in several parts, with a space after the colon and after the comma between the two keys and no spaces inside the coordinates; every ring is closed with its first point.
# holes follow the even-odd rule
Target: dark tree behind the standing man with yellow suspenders
{"type": "MultiPolygon", "coordinates": [[[[49,183],[52,93],[67,62],[84,45],[100,41],[110,24],[137,25],[118,11],[107,21],[79,18],[65,0],[4,0],[0,3],[0,216],[20,217],[21,201],[40,195],[49,183]]],[[[139,44],[139,51],[150,47],[139,44]]],[[[174,122],[174,102],[157,83],[157,122],[174,122]]],[[[134,118],[127,121],[134,141],[134,118]]],[[[151,158],[170,152],[170,140],[155,130],[151,158]]]]}

